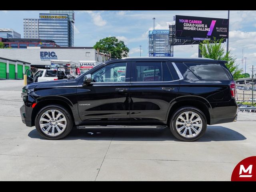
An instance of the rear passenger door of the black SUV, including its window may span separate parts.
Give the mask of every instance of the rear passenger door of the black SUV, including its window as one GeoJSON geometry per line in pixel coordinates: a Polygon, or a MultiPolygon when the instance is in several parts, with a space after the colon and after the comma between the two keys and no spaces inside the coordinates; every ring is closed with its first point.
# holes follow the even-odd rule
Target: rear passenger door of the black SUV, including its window
{"type": "Polygon", "coordinates": [[[162,124],[179,85],[178,75],[168,60],[134,61],[130,83],[131,123],[162,124]]]}

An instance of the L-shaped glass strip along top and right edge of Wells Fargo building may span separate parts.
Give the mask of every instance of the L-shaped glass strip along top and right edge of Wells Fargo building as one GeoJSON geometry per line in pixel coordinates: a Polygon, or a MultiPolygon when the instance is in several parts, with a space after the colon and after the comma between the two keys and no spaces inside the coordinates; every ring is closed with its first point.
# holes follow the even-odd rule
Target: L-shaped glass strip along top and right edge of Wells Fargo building
{"type": "Polygon", "coordinates": [[[74,47],[74,22],[75,22],[75,12],[72,10],[50,10],[50,13],[55,14],[68,14],[68,43],[70,47],[74,47]]]}

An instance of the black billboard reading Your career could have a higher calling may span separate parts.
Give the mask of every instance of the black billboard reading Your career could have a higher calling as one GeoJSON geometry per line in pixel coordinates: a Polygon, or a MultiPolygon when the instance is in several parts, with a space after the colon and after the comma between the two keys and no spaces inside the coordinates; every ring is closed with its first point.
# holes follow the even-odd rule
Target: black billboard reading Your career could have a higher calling
{"type": "Polygon", "coordinates": [[[228,38],[228,19],[176,15],[175,28],[177,38],[228,38]]]}

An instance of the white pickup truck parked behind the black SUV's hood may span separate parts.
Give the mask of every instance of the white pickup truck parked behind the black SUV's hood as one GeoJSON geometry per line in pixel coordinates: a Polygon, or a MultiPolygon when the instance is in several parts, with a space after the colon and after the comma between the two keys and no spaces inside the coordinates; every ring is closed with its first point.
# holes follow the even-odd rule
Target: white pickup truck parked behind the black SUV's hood
{"type": "Polygon", "coordinates": [[[31,70],[26,72],[27,74],[27,84],[33,82],[42,82],[42,81],[53,81],[60,80],[65,78],[70,78],[69,75],[66,75],[65,69],[59,68],[58,71],[55,69],[38,69],[38,71],[32,74],[31,70]]]}

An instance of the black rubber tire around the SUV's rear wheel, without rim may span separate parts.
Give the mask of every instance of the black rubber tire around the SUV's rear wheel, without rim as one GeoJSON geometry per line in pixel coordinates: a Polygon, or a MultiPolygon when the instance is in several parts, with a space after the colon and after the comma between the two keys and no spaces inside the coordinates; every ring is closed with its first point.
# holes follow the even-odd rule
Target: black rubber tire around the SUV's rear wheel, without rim
{"type": "Polygon", "coordinates": [[[193,107],[193,106],[184,106],[184,107],[178,108],[177,110],[175,110],[173,112],[172,116],[170,117],[170,130],[171,130],[172,134],[177,139],[182,140],[182,141],[198,140],[199,138],[201,138],[204,135],[204,133],[206,132],[206,128],[207,128],[207,122],[206,122],[206,117],[205,117],[204,113],[201,110],[199,110],[198,108],[193,107]],[[201,129],[200,133],[192,138],[188,138],[188,137],[184,137],[184,136],[180,135],[178,133],[178,130],[176,129],[176,120],[177,120],[178,116],[186,111],[195,112],[202,119],[202,129],[201,129]]]}

